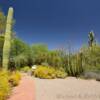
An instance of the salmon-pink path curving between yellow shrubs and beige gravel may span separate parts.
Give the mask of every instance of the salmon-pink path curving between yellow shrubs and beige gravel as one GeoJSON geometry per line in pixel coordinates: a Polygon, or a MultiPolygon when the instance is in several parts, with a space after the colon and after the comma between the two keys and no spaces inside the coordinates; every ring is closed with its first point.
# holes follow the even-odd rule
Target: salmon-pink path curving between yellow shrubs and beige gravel
{"type": "Polygon", "coordinates": [[[13,89],[8,100],[35,100],[35,86],[32,77],[23,74],[20,84],[13,89]]]}

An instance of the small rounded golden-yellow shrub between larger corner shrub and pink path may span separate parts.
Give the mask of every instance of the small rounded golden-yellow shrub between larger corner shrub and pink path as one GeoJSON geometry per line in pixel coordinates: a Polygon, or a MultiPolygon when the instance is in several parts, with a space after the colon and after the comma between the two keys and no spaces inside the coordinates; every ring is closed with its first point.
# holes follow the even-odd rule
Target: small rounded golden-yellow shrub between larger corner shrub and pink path
{"type": "Polygon", "coordinates": [[[13,72],[9,77],[9,82],[11,86],[17,86],[19,84],[19,81],[21,79],[21,75],[19,72],[13,72]]]}

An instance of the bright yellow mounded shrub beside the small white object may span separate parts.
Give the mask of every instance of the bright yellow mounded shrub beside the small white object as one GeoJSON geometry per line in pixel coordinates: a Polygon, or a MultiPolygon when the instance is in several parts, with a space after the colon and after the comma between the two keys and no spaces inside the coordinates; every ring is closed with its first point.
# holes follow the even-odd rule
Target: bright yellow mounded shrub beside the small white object
{"type": "Polygon", "coordinates": [[[53,79],[56,77],[55,70],[50,67],[39,66],[35,71],[34,75],[43,79],[53,79]]]}

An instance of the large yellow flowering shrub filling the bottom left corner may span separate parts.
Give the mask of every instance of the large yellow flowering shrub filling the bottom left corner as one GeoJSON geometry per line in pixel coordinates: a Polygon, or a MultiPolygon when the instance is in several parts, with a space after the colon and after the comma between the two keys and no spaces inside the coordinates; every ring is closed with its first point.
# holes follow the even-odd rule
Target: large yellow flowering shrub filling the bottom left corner
{"type": "Polygon", "coordinates": [[[8,82],[8,72],[0,71],[0,100],[5,100],[11,90],[8,82]]]}

